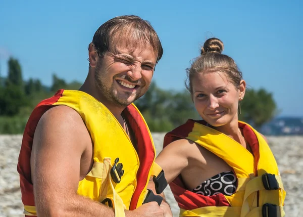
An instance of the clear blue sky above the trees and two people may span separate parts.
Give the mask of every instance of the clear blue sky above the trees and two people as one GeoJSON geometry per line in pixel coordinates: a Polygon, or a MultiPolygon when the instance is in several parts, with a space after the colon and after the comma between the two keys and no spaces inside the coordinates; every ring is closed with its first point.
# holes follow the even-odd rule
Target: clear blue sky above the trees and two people
{"type": "Polygon", "coordinates": [[[224,42],[251,88],[272,92],[281,116],[303,116],[301,1],[1,1],[0,72],[18,58],[24,79],[52,83],[57,73],[83,82],[87,46],[107,20],[134,14],[156,29],[164,48],[154,81],[184,89],[185,69],[212,36],[224,42]]]}

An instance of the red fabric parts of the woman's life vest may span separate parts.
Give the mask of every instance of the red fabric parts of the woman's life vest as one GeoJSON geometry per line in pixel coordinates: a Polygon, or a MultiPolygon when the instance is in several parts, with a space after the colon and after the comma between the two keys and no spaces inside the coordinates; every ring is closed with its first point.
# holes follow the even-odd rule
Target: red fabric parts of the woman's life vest
{"type": "MultiPolygon", "coordinates": [[[[204,120],[187,120],[185,124],[175,128],[173,131],[165,135],[163,147],[167,146],[173,141],[186,138],[188,134],[192,131],[195,122],[204,125],[207,124],[207,122],[204,120]]],[[[257,136],[252,131],[252,129],[246,124],[239,123],[239,127],[243,129],[244,138],[249,143],[252,152],[254,152],[255,165],[257,166],[260,158],[259,143],[257,136]]],[[[205,206],[230,206],[229,202],[226,200],[223,194],[217,194],[214,196],[203,196],[186,190],[181,176],[178,176],[172,183],[170,183],[170,187],[178,203],[178,206],[181,209],[191,210],[205,206]]]]}

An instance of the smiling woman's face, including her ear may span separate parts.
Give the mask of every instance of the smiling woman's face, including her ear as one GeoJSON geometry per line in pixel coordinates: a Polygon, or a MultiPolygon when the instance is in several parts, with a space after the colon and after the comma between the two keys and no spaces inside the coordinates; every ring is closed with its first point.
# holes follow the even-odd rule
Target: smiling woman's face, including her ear
{"type": "Polygon", "coordinates": [[[194,75],[192,97],[199,115],[212,126],[223,126],[234,118],[238,120],[239,99],[245,94],[245,81],[237,89],[223,72],[194,75]]]}

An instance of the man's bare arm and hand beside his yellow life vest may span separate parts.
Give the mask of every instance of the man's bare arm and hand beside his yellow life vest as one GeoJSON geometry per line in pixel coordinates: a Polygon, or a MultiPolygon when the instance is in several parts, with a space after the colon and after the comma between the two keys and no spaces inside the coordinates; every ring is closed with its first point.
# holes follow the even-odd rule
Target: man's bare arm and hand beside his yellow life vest
{"type": "MultiPolygon", "coordinates": [[[[91,139],[80,115],[66,106],[48,110],[40,119],[31,156],[37,215],[115,216],[114,210],[77,195],[80,162],[91,139]]],[[[128,211],[127,217],[163,217],[156,202],[128,211]]]]}

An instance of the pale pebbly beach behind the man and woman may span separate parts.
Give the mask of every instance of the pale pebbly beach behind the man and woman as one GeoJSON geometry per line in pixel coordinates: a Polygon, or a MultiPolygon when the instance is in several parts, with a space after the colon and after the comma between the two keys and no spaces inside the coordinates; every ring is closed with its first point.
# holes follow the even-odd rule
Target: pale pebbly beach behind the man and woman
{"type": "MultiPolygon", "coordinates": [[[[152,135],[159,153],[164,134],[152,135]]],[[[16,170],[21,139],[21,135],[0,135],[0,217],[24,216],[19,176],[16,170]]],[[[268,140],[287,191],[286,216],[302,216],[303,211],[300,207],[303,207],[303,137],[268,137],[268,140]]],[[[179,208],[169,188],[165,190],[165,194],[174,216],[178,216],[179,208]]]]}

